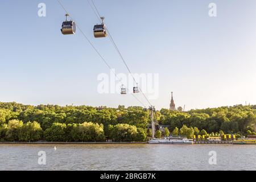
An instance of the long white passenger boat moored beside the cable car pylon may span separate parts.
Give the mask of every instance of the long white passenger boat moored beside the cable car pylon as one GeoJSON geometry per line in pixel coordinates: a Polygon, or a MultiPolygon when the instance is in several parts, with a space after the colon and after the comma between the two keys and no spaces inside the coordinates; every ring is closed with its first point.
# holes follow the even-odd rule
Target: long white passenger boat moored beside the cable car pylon
{"type": "Polygon", "coordinates": [[[166,137],[162,139],[151,139],[148,141],[150,144],[193,144],[192,139],[186,137],[166,137]]]}

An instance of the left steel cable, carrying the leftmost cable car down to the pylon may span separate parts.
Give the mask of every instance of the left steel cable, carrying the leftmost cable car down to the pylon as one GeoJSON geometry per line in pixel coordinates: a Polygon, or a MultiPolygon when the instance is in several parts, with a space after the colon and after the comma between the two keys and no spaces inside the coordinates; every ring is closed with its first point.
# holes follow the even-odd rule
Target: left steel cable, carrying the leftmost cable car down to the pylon
{"type": "MultiPolygon", "coordinates": [[[[69,14],[68,11],[67,11],[67,9],[65,9],[64,5],[60,2],[60,0],[57,0],[57,2],[59,2],[60,6],[63,8],[63,10],[65,11],[65,13],[69,14]]],[[[70,17],[71,19],[73,19],[70,14],[69,14],[69,17],[70,17]]],[[[118,81],[121,82],[121,79],[120,79],[120,78],[117,76],[117,74],[112,70],[112,68],[110,67],[110,65],[108,64],[108,62],[107,62],[107,61],[104,59],[104,57],[100,54],[100,52],[98,51],[98,49],[97,49],[96,47],[94,47],[93,43],[90,42],[90,40],[88,39],[88,37],[84,34],[84,31],[82,31],[82,29],[79,27],[79,25],[78,25],[77,23],[76,23],[76,27],[77,27],[77,28],[79,29],[79,31],[82,33],[82,35],[83,35],[84,38],[87,40],[87,42],[90,44],[90,46],[92,46],[92,48],[94,49],[94,51],[97,52],[98,56],[101,57],[102,61],[104,61],[104,63],[107,65],[107,67],[110,69],[110,71],[112,71],[112,72],[114,73],[114,75],[115,75],[115,77],[118,79],[118,81]]],[[[122,82],[121,82],[121,84],[122,84],[122,82]]],[[[127,90],[128,90],[128,89],[127,89],[127,90]]],[[[128,90],[128,91],[129,91],[129,90],[128,90]]],[[[133,96],[138,102],[140,102],[144,107],[146,107],[136,96],[134,96],[133,94],[132,94],[132,96],[133,96]]]]}

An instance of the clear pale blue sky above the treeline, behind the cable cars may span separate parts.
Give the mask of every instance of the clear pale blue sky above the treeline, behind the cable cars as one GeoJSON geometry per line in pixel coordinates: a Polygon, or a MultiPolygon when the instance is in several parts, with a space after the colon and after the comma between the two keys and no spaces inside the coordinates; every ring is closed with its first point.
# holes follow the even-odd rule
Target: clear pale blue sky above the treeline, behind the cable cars
{"type": "MultiPolygon", "coordinates": [[[[97,18],[86,0],[63,0],[112,68],[127,73],[106,39],[94,39],[97,18]]],[[[159,73],[159,97],[168,108],[256,104],[255,0],[94,0],[133,73],[159,73]],[[217,4],[217,17],[208,5],[217,4]]],[[[81,32],[64,36],[57,1],[1,1],[0,101],[23,104],[140,105],[133,96],[97,93],[109,69],[81,32]],[[46,3],[47,16],[38,17],[46,3]]],[[[139,94],[138,98],[148,105],[139,94]]]]}

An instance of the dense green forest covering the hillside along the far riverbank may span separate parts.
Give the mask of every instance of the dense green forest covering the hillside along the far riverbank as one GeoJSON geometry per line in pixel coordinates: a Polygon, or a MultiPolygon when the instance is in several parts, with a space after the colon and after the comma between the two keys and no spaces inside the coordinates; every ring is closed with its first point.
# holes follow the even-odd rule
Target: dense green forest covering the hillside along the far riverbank
{"type": "MultiPolygon", "coordinates": [[[[187,112],[157,110],[154,118],[166,125],[163,135],[227,133],[256,134],[256,105],[225,106],[187,112]]],[[[92,106],[22,105],[0,102],[0,141],[96,142],[144,141],[150,111],[139,106],[118,108],[92,106]]]]}

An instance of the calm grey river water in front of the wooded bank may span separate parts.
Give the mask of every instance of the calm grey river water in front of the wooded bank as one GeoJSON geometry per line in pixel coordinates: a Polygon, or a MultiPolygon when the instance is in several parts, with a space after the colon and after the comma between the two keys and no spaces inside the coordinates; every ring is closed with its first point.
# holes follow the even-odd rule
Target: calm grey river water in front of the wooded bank
{"type": "Polygon", "coordinates": [[[256,145],[0,144],[0,170],[256,170],[256,145]]]}

